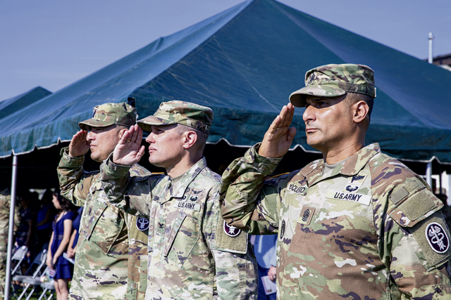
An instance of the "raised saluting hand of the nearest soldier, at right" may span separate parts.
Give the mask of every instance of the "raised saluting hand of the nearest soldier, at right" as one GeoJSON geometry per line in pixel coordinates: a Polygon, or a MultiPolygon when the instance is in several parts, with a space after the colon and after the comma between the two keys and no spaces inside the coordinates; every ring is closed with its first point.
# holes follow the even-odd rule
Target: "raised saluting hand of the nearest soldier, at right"
{"type": "Polygon", "coordinates": [[[288,152],[296,136],[295,127],[290,128],[293,115],[295,115],[295,107],[291,103],[282,107],[280,114],[265,133],[259,155],[274,158],[283,157],[288,152]]]}

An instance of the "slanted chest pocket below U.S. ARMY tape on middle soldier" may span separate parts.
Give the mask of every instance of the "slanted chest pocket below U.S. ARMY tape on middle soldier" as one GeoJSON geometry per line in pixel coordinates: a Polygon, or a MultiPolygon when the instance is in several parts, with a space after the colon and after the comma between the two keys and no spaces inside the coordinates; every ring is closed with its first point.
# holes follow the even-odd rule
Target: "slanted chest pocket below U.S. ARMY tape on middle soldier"
{"type": "Polygon", "coordinates": [[[169,232],[163,255],[182,268],[197,240],[199,240],[197,224],[192,218],[187,217],[185,211],[180,211],[169,232]]]}

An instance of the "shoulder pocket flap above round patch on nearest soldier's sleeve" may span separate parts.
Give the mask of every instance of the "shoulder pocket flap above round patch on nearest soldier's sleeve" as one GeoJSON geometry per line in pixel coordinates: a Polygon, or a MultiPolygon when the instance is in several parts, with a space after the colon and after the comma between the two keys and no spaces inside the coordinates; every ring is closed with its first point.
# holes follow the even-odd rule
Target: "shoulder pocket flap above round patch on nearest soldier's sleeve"
{"type": "Polygon", "coordinates": [[[401,187],[393,192],[390,199],[397,206],[388,214],[402,227],[412,227],[443,207],[442,202],[427,188],[409,193],[408,189],[401,187]]]}

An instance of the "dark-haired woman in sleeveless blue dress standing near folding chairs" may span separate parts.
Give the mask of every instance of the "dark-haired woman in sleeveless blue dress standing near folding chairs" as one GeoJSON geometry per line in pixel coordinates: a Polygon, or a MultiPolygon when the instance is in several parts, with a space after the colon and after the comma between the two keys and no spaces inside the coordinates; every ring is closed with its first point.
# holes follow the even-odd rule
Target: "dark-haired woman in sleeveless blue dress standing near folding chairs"
{"type": "Polygon", "coordinates": [[[55,292],[57,300],[68,299],[68,281],[72,278],[73,265],[63,257],[72,233],[72,222],[75,219],[75,207],[69,200],[61,197],[58,192],[53,194],[54,206],[58,209],[52,224],[49,252],[47,252],[47,266],[55,270],[55,292]]]}

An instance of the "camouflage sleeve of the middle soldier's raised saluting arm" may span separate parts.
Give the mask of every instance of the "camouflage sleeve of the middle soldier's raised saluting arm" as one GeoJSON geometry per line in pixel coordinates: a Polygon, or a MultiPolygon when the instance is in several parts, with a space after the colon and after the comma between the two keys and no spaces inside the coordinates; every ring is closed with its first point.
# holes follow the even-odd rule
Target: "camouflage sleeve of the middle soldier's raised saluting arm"
{"type": "Polygon", "coordinates": [[[113,163],[111,155],[101,164],[100,174],[101,187],[111,204],[127,214],[149,219],[149,206],[145,199],[149,188],[145,182],[140,183],[145,177],[130,179],[130,167],[113,163]],[[142,189],[147,190],[147,193],[141,193],[142,189]]]}

